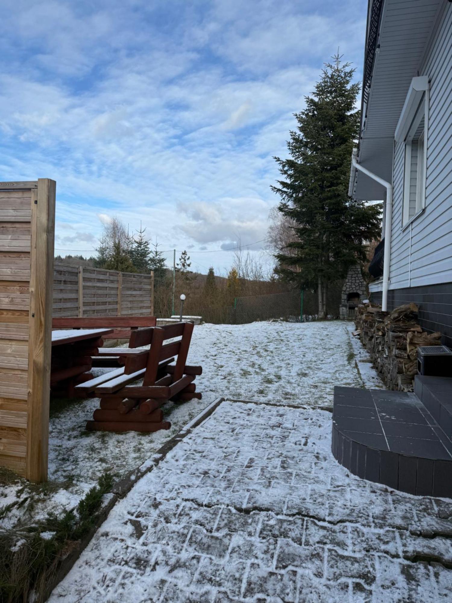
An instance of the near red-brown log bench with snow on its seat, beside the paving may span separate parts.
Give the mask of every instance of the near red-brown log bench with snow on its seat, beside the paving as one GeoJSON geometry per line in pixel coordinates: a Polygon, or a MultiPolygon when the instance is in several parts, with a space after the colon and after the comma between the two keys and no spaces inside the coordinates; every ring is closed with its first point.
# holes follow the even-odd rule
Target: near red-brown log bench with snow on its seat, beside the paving
{"type": "Polygon", "coordinates": [[[86,429],[118,432],[169,429],[171,423],[163,420],[160,409],[163,404],[168,400],[201,399],[193,382],[202,368],[186,365],[192,332],[193,323],[189,322],[134,330],[129,348],[137,353],[127,355],[124,367],[113,371],[114,376],[107,373],[77,387],[80,391],[94,391],[100,398],[100,408],[94,411],[93,420],[87,421],[86,429]],[[180,339],[165,343],[174,338],[180,339]],[[136,350],[143,346],[149,349],[136,350]],[[139,379],[143,379],[142,384],[134,384],[139,379]]]}

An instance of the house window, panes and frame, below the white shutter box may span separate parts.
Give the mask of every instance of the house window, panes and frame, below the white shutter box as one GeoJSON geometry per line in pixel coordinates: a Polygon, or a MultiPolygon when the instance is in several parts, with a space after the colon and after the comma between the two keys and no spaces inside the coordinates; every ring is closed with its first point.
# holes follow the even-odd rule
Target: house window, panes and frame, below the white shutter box
{"type": "MultiPolygon", "coordinates": [[[[425,96],[425,95],[424,95],[425,96]]],[[[405,174],[403,190],[403,224],[425,207],[425,99],[410,124],[405,138],[405,174]]]]}

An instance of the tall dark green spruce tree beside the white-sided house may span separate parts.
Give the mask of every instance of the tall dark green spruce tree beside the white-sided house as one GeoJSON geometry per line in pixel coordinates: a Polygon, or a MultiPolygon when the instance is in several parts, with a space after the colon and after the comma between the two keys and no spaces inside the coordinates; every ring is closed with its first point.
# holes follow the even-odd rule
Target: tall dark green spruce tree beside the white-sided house
{"type": "Polygon", "coordinates": [[[345,278],[366,258],[366,244],[380,235],[379,205],[348,197],[350,161],[359,134],[354,69],[333,57],[326,63],[306,109],[295,113],[287,142],[290,159],[275,157],[283,180],[272,190],[278,210],[294,221],[296,240],[280,253],[278,273],[298,286],[318,289],[319,317],[327,315],[328,283],[345,278]]]}

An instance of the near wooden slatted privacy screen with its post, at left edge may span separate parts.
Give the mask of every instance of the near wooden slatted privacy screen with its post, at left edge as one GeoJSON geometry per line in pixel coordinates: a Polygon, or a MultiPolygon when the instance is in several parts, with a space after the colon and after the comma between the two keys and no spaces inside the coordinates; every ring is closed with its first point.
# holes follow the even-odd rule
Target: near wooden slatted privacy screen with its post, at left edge
{"type": "Polygon", "coordinates": [[[47,479],[55,182],[0,182],[0,466],[47,479]]]}

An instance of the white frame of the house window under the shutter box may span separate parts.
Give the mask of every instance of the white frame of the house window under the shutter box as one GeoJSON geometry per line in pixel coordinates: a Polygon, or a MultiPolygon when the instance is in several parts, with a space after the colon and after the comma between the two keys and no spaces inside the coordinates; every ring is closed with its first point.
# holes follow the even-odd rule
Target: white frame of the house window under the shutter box
{"type": "Polygon", "coordinates": [[[409,130],[405,138],[405,163],[404,163],[404,183],[403,183],[403,218],[402,226],[405,227],[410,220],[414,219],[425,207],[425,173],[427,171],[427,107],[428,94],[424,93],[424,98],[419,103],[409,130]],[[413,136],[418,130],[419,124],[424,118],[424,130],[419,137],[418,143],[418,165],[416,169],[416,209],[414,215],[410,216],[410,180],[411,180],[411,151],[413,136]],[[422,142],[422,145],[421,145],[422,142]]]}

